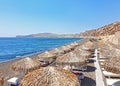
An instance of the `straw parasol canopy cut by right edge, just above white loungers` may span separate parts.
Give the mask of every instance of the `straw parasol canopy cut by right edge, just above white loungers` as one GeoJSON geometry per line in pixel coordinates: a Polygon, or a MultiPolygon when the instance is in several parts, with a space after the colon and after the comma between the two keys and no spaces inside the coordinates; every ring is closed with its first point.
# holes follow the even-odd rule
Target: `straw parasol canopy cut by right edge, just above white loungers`
{"type": "Polygon", "coordinates": [[[104,69],[109,72],[120,74],[120,57],[111,57],[105,61],[104,69]]]}

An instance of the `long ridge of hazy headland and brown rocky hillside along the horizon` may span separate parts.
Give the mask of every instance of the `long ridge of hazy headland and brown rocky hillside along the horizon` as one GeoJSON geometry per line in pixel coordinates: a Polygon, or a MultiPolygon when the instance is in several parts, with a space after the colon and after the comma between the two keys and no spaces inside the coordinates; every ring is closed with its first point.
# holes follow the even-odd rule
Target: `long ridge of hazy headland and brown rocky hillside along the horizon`
{"type": "Polygon", "coordinates": [[[25,36],[16,36],[16,37],[49,37],[49,38],[60,38],[60,37],[67,37],[67,38],[78,38],[78,37],[99,37],[99,36],[109,36],[115,34],[115,32],[120,31],[120,22],[114,22],[112,24],[105,25],[98,29],[92,29],[85,31],[83,33],[78,34],[54,34],[54,33],[38,33],[38,34],[31,34],[25,36]]]}

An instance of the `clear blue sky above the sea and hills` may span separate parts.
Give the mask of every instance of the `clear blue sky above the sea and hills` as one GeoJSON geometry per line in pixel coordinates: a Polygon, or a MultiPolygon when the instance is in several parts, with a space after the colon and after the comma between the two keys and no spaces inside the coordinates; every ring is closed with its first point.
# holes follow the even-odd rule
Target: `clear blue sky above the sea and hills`
{"type": "Polygon", "coordinates": [[[120,0],[0,0],[0,36],[79,33],[120,20],[120,0]]]}

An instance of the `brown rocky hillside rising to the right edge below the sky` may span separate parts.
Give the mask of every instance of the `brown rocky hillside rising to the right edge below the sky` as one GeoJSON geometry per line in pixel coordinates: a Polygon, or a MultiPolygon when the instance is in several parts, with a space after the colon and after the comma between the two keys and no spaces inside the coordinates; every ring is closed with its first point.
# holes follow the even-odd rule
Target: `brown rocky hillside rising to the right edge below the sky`
{"type": "Polygon", "coordinates": [[[108,36],[113,35],[115,32],[120,31],[120,22],[114,22],[112,24],[105,25],[95,30],[89,30],[84,33],[80,33],[79,36],[108,36]]]}

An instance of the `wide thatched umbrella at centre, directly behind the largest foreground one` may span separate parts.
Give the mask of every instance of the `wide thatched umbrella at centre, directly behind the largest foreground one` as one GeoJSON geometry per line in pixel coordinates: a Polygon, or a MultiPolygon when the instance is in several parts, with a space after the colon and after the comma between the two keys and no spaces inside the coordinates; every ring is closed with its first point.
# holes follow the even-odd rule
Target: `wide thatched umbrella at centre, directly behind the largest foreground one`
{"type": "Polygon", "coordinates": [[[70,68],[86,66],[86,58],[80,58],[74,52],[70,52],[63,56],[58,57],[56,59],[56,65],[71,66],[70,68]]]}

